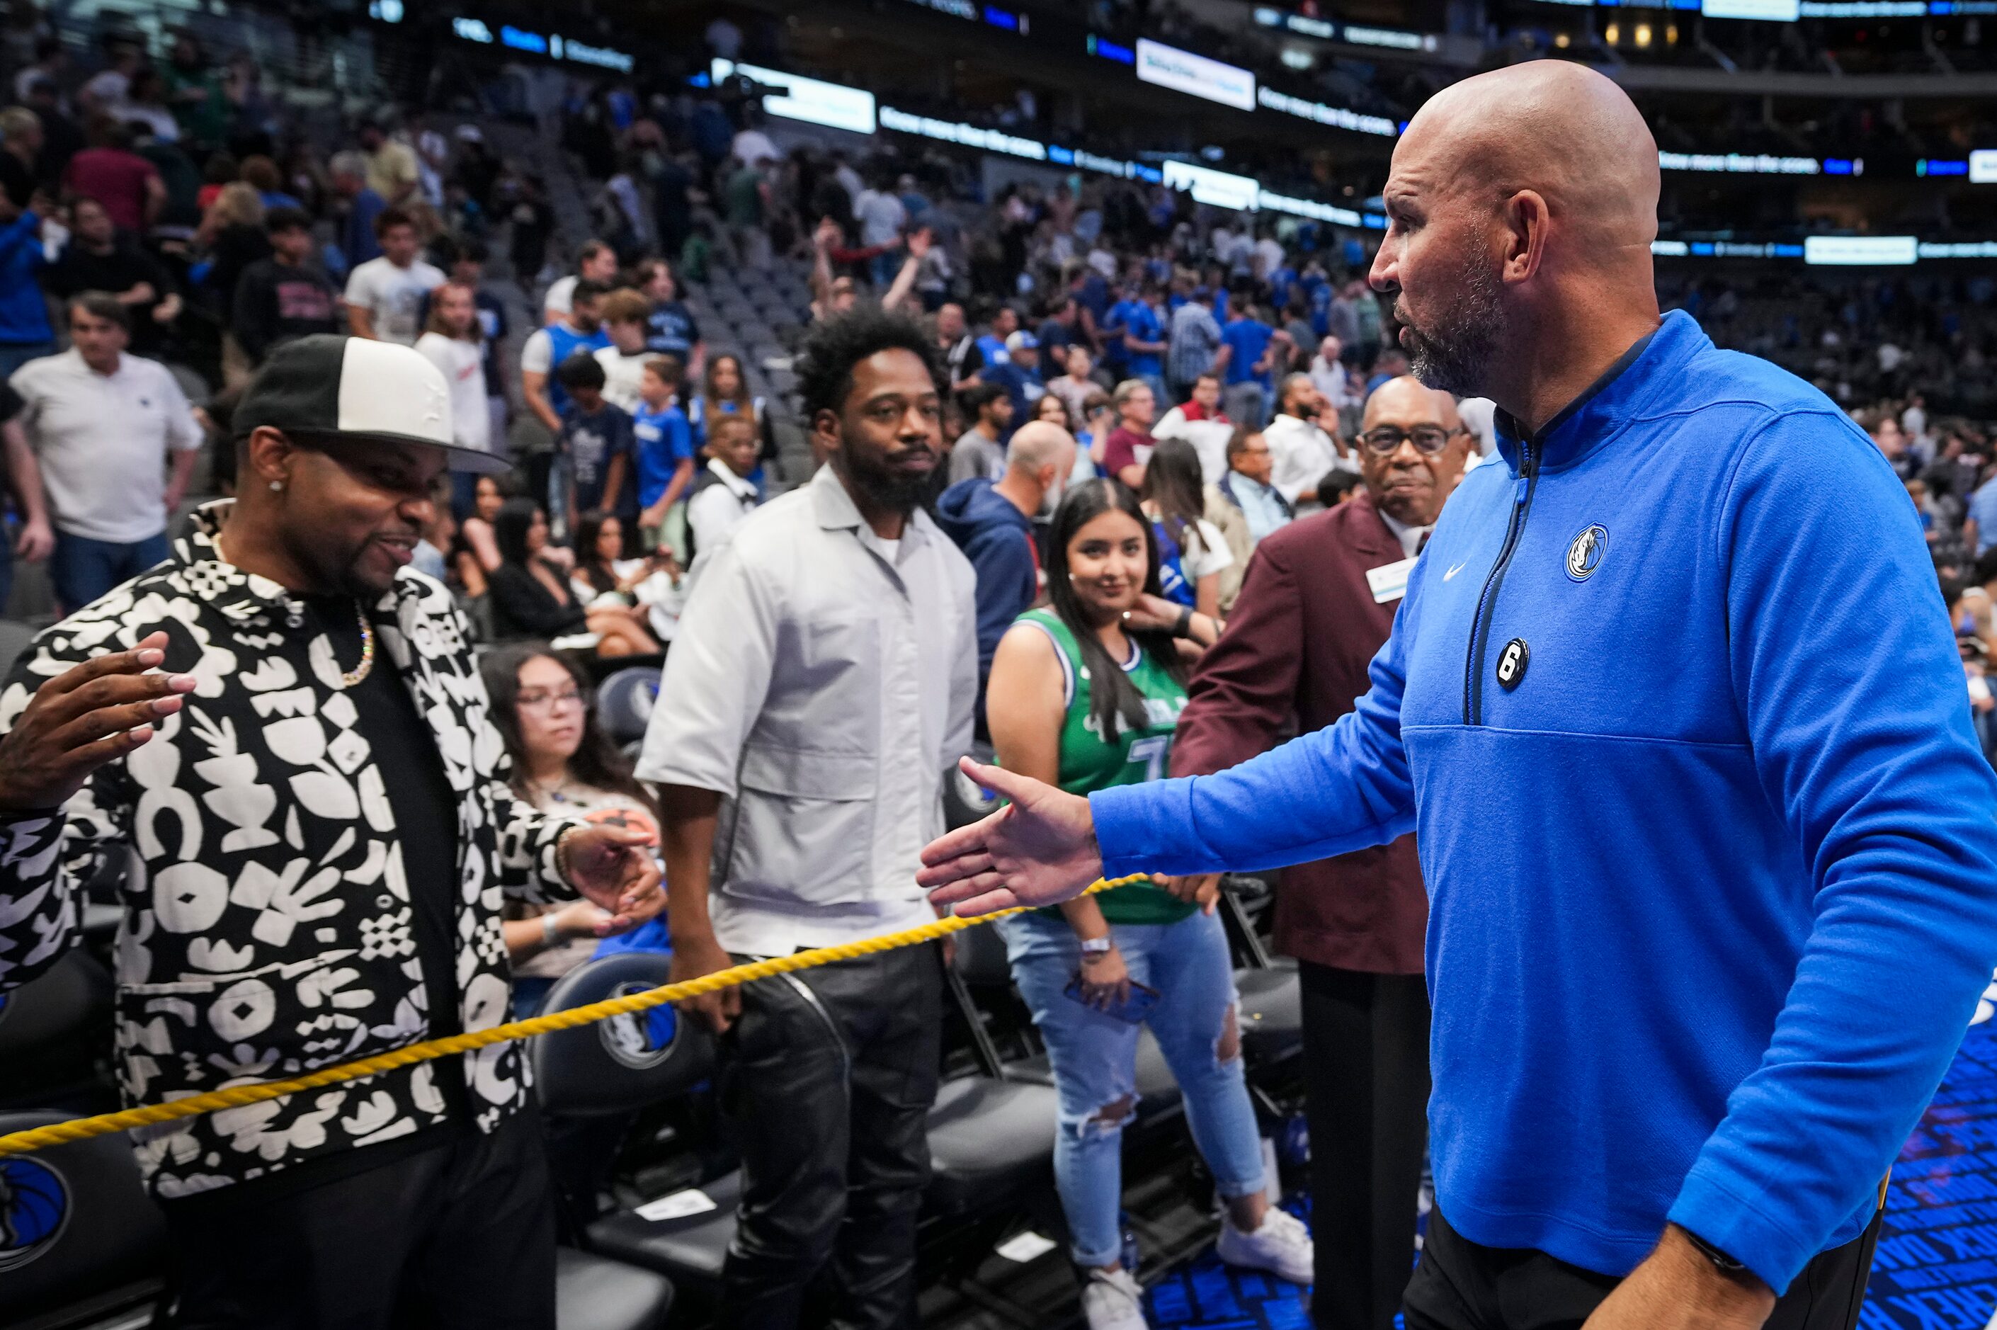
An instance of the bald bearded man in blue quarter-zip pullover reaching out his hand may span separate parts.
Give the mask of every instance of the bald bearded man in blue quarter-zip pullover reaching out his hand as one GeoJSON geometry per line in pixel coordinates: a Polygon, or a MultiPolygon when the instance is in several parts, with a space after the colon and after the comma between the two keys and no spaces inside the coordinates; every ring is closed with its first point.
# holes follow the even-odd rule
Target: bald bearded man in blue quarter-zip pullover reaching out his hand
{"type": "MultiPolygon", "coordinates": [[[[1336,723],[1010,803],[939,905],[1414,831],[1436,1208],[1410,1330],[1843,1330],[1997,959],[1997,775],[1905,489],[1823,393],[1658,316],[1658,146],[1542,60],[1394,146],[1372,286],[1498,403],[1336,723]],[[1502,465],[1500,465],[1502,463],[1502,465]]],[[[1232,631],[1232,629],[1230,629],[1232,631]]]]}

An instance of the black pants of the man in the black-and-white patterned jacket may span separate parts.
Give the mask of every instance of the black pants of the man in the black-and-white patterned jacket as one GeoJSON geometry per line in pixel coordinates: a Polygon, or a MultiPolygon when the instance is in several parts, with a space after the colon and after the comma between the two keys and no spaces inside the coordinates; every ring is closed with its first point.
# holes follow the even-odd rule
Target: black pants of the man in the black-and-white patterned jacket
{"type": "Polygon", "coordinates": [[[555,1224],[531,1112],[310,1190],[174,1202],[168,1232],[180,1330],[555,1326],[555,1224]]]}

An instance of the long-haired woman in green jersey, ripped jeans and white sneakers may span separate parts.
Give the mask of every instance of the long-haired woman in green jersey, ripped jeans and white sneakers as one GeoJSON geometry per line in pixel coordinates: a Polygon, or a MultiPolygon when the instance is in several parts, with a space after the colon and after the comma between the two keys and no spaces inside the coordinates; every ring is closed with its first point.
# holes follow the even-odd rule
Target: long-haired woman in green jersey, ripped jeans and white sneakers
{"type": "MultiPolygon", "coordinates": [[[[1076,795],[1156,781],[1186,705],[1180,643],[1204,647],[1218,625],[1158,595],[1150,523],[1116,481],[1086,481],[1062,499],[1046,581],[1052,605],[1020,615],[993,659],[987,715],[1000,765],[1076,795]]],[[[1158,1038],[1226,1198],[1220,1258],[1310,1280],[1310,1234],[1264,1194],[1212,893],[1212,879],[1134,883],[998,923],[1060,1092],[1054,1180],[1074,1262],[1088,1274],[1090,1330],[1144,1326],[1116,1222],[1122,1124],[1136,1102],[1134,1020],[1158,1038]],[[1158,997],[1138,1014],[1132,1002],[1146,991],[1158,997]]]]}

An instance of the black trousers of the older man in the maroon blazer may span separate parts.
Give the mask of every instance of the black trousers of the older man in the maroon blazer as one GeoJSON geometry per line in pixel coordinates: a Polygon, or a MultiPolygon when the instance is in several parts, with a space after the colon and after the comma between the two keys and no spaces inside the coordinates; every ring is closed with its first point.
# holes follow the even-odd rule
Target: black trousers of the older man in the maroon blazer
{"type": "Polygon", "coordinates": [[[1392,1330],[1428,1140],[1428,985],[1298,963],[1322,1330],[1392,1330]]]}

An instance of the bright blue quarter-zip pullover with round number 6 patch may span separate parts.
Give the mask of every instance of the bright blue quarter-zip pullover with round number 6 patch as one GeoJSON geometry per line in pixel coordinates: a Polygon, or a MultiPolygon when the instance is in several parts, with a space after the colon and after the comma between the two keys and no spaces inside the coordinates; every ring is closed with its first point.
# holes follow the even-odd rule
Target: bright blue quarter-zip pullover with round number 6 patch
{"type": "Polygon", "coordinates": [[[1997,961],[1933,563],[1871,441],[1683,314],[1500,449],[1358,709],[1092,795],[1102,871],[1414,831],[1450,1224],[1626,1274],[1669,1218],[1779,1292],[1871,1218],[1997,961]]]}

